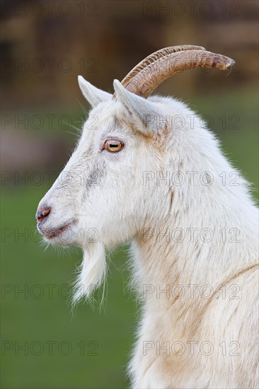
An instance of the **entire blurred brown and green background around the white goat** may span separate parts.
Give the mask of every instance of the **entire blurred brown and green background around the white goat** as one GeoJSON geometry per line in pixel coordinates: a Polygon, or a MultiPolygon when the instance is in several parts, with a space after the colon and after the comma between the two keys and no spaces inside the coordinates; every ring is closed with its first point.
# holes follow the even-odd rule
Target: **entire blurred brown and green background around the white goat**
{"type": "Polygon", "coordinates": [[[1,388],[126,388],[139,307],[127,247],[109,258],[105,303],[68,294],[80,250],[40,243],[38,202],[67,161],[88,105],[76,77],[106,91],[169,45],[236,59],[195,69],[159,93],[190,103],[258,197],[258,2],[1,1],[1,388]],[[52,6],[50,7],[50,3],[52,6]],[[49,4],[49,5],[48,5],[49,4]],[[71,125],[70,125],[71,124],[71,125]]]}

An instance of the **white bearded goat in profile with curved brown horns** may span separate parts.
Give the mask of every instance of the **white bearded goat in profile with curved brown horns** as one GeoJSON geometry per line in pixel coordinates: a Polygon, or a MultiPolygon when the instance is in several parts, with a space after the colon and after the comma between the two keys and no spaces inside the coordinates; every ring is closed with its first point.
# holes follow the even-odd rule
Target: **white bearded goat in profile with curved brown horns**
{"type": "Polygon", "coordinates": [[[185,104],[148,97],[178,71],[232,64],[202,47],[168,47],[115,80],[113,98],[79,76],[93,110],[39,204],[47,242],[84,250],[75,301],[103,280],[105,249],[131,242],[143,302],[133,388],[258,388],[258,223],[248,183],[185,104]]]}

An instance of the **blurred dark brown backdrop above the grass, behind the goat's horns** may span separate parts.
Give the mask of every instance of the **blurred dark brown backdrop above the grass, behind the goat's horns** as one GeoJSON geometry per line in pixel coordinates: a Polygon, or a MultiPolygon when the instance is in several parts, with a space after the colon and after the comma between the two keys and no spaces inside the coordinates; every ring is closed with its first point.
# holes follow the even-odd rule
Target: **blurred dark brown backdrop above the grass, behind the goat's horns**
{"type": "MultiPolygon", "coordinates": [[[[257,17],[258,1],[2,0],[1,104],[6,116],[1,129],[67,130],[72,112],[79,112],[77,99],[84,101],[78,74],[113,92],[113,79],[121,80],[146,55],[170,45],[202,45],[236,59],[236,67],[227,79],[212,69],[188,71],[166,81],[159,92],[196,103],[196,95],[223,97],[237,88],[254,89],[257,17]],[[57,110],[59,117],[48,117],[57,110]],[[68,118],[60,117],[67,112],[68,118]]],[[[32,163],[49,166],[51,159],[57,167],[68,151],[64,139],[56,139],[57,155],[52,139],[42,152],[28,131],[5,132],[2,137],[13,149],[10,155],[3,150],[7,169],[30,168],[32,163]]]]}

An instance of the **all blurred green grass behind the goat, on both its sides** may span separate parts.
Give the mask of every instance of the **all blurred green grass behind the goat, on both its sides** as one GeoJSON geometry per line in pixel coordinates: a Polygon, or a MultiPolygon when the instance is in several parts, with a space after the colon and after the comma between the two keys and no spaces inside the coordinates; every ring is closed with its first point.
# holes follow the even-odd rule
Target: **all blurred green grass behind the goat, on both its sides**
{"type": "MultiPolygon", "coordinates": [[[[255,93],[229,93],[224,99],[210,93],[205,98],[196,96],[192,99],[192,106],[197,112],[212,115],[212,129],[221,140],[224,151],[253,186],[258,187],[255,93]],[[226,129],[222,129],[219,117],[223,114],[227,118],[238,115],[238,128],[230,129],[227,122],[226,129]]],[[[74,279],[76,265],[81,261],[80,250],[52,247],[44,250],[36,241],[37,234],[35,241],[18,236],[25,232],[25,228],[28,228],[28,233],[34,230],[35,210],[47,189],[47,186],[19,186],[2,190],[1,388],[125,388],[128,385],[125,366],[137,325],[136,304],[127,291],[127,252],[120,248],[110,260],[104,307],[99,310],[96,303],[93,310],[87,304],[81,304],[73,317],[67,298],[60,296],[62,290],[59,288],[67,286],[71,289],[69,285],[74,279]],[[4,228],[11,228],[13,235],[5,237],[4,233],[10,231],[4,228]],[[47,289],[50,284],[54,285],[52,298],[47,289]],[[28,287],[28,296],[18,293],[18,289],[24,287],[28,287]],[[32,287],[34,289],[30,289],[32,287]],[[8,293],[4,293],[6,288],[9,288],[8,293]],[[36,298],[40,290],[43,290],[43,295],[36,298]],[[25,341],[28,342],[28,355],[15,347],[15,342],[22,345],[25,341]],[[57,342],[53,345],[52,355],[47,341],[57,342]],[[12,348],[5,350],[3,342],[11,342],[8,345],[12,348]],[[38,347],[33,342],[40,342],[43,346],[41,355],[35,355],[38,347]],[[61,342],[71,345],[69,355],[64,355],[65,347],[63,354],[58,350],[61,342]],[[85,344],[84,355],[81,355],[79,346],[82,342],[85,344]],[[30,350],[33,344],[35,349],[30,350]],[[95,344],[98,344],[97,355],[89,355],[95,344]]],[[[256,197],[258,193],[254,194],[256,197]]],[[[63,289],[64,294],[68,289],[63,289]]],[[[96,298],[100,300],[98,293],[96,298]]]]}

